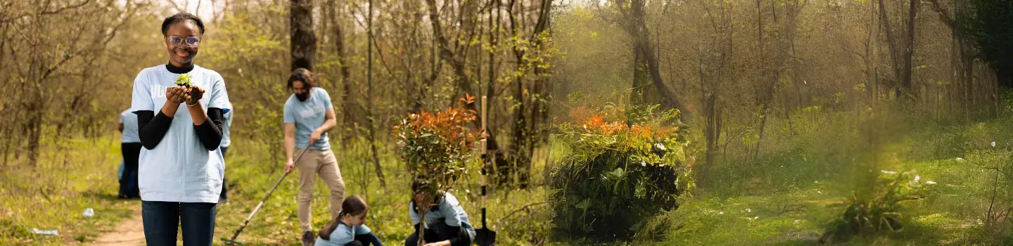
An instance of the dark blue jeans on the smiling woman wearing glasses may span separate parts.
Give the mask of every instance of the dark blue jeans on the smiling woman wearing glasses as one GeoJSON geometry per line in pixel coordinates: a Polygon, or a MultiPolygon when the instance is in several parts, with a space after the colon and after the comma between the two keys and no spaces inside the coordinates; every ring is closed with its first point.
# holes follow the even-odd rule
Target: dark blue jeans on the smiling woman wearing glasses
{"type": "Polygon", "coordinates": [[[148,245],[176,245],[176,227],[183,231],[183,245],[211,245],[215,237],[218,203],[141,201],[144,238],[148,245]]]}

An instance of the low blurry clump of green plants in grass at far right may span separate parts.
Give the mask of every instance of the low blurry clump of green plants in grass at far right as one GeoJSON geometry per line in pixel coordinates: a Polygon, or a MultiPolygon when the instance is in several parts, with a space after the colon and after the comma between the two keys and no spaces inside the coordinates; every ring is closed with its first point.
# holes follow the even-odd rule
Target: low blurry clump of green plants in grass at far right
{"type": "Polygon", "coordinates": [[[919,199],[916,190],[919,176],[913,172],[880,171],[874,193],[853,192],[835,206],[844,206],[836,219],[828,224],[822,242],[847,241],[855,236],[879,236],[904,229],[902,201],[919,199]]]}

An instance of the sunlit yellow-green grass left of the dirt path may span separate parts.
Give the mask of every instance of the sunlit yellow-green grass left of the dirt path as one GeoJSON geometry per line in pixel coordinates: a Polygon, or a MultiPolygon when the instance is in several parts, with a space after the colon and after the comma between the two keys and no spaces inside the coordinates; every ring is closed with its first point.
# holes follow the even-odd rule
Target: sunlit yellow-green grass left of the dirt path
{"type": "Polygon", "coordinates": [[[0,244],[67,245],[89,242],[131,216],[137,200],[115,199],[119,136],[45,143],[36,167],[4,163],[0,173],[0,244]],[[95,216],[84,218],[86,208],[95,216]],[[32,228],[59,236],[32,234],[32,228]]]}

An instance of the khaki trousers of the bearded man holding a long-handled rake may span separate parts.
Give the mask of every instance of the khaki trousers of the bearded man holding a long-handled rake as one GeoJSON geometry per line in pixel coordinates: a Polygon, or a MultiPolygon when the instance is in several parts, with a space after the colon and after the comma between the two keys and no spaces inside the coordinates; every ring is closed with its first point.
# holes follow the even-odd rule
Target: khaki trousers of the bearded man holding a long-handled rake
{"type": "Polygon", "coordinates": [[[299,169],[299,227],[303,231],[312,231],[310,202],[313,201],[313,183],[319,175],[330,189],[330,218],[336,218],[341,212],[341,201],[344,199],[344,181],[337,160],[330,150],[308,150],[302,159],[296,163],[299,169]]]}

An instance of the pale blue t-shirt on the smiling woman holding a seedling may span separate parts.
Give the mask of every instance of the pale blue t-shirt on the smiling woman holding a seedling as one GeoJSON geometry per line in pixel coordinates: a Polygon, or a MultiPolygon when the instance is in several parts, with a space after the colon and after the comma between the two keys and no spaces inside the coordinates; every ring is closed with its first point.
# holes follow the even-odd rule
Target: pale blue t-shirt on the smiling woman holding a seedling
{"type": "MultiPolygon", "coordinates": [[[[206,90],[201,98],[205,110],[217,107],[227,113],[231,109],[221,75],[200,66],[194,66],[188,74],[193,85],[206,90]]],[[[179,76],[169,72],[165,65],[142,70],[134,80],[131,111],[149,110],[158,114],[166,102],[166,88],[175,86],[179,76]]],[[[172,115],[168,132],[155,149],[141,149],[138,163],[141,199],[218,202],[225,173],[224,163],[220,149],[208,151],[201,144],[189,110],[186,105],[179,105],[175,115],[172,115]]]]}

